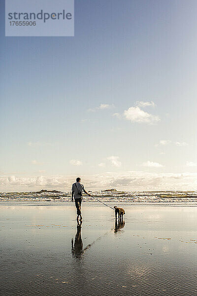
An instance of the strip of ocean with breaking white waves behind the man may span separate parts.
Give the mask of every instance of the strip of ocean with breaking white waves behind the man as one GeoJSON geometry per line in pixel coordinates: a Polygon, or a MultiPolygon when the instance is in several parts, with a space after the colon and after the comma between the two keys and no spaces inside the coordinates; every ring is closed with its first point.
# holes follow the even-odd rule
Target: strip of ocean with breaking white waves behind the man
{"type": "MultiPolygon", "coordinates": [[[[197,191],[89,191],[102,202],[131,202],[131,203],[181,203],[196,204],[197,191]]],[[[0,201],[23,202],[55,202],[64,203],[71,200],[71,192],[1,192],[0,201]]],[[[93,197],[84,195],[83,202],[97,202],[93,197]]]]}

